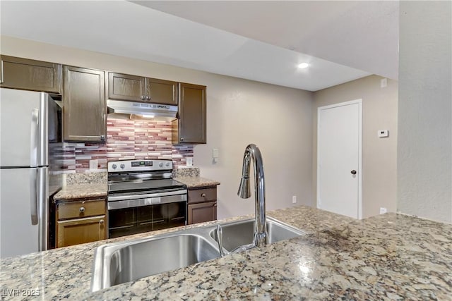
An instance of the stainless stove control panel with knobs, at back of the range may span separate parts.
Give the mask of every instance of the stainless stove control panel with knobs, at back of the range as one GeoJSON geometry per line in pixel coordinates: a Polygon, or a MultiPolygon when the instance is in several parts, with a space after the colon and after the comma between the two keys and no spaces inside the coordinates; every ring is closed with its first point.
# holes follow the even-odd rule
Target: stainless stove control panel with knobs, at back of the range
{"type": "Polygon", "coordinates": [[[119,173],[127,171],[162,171],[172,170],[171,160],[121,160],[109,161],[108,171],[119,173]]]}

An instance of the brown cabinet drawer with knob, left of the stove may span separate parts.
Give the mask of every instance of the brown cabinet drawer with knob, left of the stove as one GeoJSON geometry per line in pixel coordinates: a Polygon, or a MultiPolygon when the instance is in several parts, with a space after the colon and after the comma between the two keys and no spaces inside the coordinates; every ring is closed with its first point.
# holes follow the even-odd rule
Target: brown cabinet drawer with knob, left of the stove
{"type": "Polygon", "coordinates": [[[78,219],[105,214],[105,199],[60,202],[58,204],[57,219],[78,219]]]}

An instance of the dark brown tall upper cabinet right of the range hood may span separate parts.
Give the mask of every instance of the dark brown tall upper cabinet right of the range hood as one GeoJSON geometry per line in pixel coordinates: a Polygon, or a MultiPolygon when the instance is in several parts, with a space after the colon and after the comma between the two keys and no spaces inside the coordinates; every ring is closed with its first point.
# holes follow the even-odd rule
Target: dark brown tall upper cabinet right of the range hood
{"type": "Polygon", "coordinates": [[[179,119],[172,127],[174,144],[206,143],[206,86],[179,83],[179,119]]]}

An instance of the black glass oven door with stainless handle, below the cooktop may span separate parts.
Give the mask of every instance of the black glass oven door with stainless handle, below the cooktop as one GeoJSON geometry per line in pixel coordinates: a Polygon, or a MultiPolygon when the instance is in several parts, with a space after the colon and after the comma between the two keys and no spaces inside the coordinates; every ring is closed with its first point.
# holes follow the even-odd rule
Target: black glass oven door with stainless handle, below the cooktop
{"type": "Polygon", "coordinates": [[[109,196],[109,238],[186,225],[186,194],[116,201],[110,199],[112,197],[109,196]]]}

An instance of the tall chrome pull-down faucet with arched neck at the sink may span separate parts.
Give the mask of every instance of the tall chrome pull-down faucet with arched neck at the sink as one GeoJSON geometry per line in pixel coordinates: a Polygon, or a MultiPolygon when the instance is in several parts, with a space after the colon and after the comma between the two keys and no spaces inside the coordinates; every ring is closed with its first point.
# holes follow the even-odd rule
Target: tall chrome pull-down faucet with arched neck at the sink
{"type": "Polygon", "coordinates": [[[267,224],[266,224],[266,189],[263,177],[263,163],[261,151],[256,145],[248,145],[243,156],[242,180],[240,181],[237,195],[242,199],[251,197],[249,188],[249,166],[253,161],[254,165],[254,202],[256,222],[254,225],[253,245],[261,247],[268,242],[267,224]]]}

